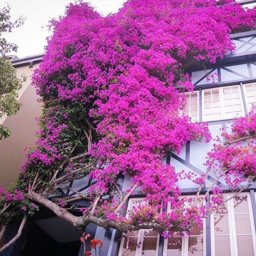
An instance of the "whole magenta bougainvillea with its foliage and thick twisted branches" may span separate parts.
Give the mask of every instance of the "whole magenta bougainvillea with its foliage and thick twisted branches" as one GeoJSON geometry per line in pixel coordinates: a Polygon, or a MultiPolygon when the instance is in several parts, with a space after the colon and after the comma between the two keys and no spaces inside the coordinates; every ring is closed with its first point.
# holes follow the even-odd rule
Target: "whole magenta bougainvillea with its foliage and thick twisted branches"
{"type": "Polygon", "coordinates": [[[190,140],[211,140],[207,123],[178,114],[184,92],[193,90],[189,68],[223,58],[234,49],[230,33],[255,25],[256,9],[234,0],[128,0],[107,17],[87,3],[70,4],[64,17],[52,20],[53,35],[33,76],[43,103],[37,146],[28,149],[15,189],[1,190],[1,234],[16,216],[23,216],[22,230],[38,204],[75,227],[95,223],[127,233],[154,226],[168,237],[189,232],[224,204],[215,186],[220,177],[244,190],[256,175],[254,109],[233,123],[231,134],[222,134],[225,145],[217,139],[205,175],[188,177],[162,159],[190,140]],[[250,141],[241,146],[242,140],[250,141]],[[216,180],[202,198],[210,171],[216,180]],[[93,182],[86,193],[70,187],[87,175],[93,182]],[[126,192],[117,183],[122,175],[131,177],[126,192]],[[177,181],[186,178],[199,185],[194,198],[180,198],[177,181]],[[59,189],[73,196],[60,197],[59,189]],[[149,203],[124,217],[136,189],[149,203]],[[76,206],[78,200],[90,206],[76,206]],[[160,211],[167,203],[171,212],[160,211]]]}

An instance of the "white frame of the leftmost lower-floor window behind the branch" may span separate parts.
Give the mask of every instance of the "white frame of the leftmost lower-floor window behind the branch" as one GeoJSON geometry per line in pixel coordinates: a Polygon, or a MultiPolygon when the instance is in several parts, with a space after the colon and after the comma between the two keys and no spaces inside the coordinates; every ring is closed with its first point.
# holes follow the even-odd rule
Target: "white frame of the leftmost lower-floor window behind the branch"
{"type": "MultiPolygon", "coordinates": [[[[128,218],[128,210],[131,210],[131,202],[132,201],[138,201],[138,200],[145,200],[145,198],[130,198],[128,201],[128,206],[127,206],[127,212],[126,212],[126,218],[128,218]]],[[[144,201],[145,204],[148,204],[148,200],[144,201]]],[[[143,238],[144,238],[144,229],[139,230],[138,233],[138,243],[141,242],[140,244],[140,248],[136,247],[136,253],[135,256],[142,256],[142,249],[143,249],[143,238]]],[[[159,240],[160,240],[160,236],[159,234],[157,235],[157,247],[156,247],[156,256],[158,255],[158,250],[159,250],[159,240]]],[[[122,256],[122,250],[123,247],[125,245],[125,238],[123,238],[120,242],[120,247],[119,247],[119,253],[118,256],[122,256]]]]}

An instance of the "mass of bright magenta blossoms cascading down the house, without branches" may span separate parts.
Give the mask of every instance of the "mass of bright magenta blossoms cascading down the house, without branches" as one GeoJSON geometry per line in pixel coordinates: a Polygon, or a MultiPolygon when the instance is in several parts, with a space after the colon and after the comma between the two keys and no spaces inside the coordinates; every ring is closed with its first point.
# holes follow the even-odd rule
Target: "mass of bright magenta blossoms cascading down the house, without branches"
{"type": "MultiPolygon", "coordinates": [[[[112,191],[118,175],[130,175],[131,187],[140,187],[150,202],[171,205],[170,213],[158,213],[153,204],[138,207],[130,221],[154,219],[169,228],[201,224],[205,207],[193,205],[191,198],[178,200],[177,181],[184,176],[162,164],[189,140],[211,139],[206,123],[178,114],[185,107],[183,92],[193,90],[186,70],[222,58],[234,49],[229,34],[255,25],[256,9],[244,10],[234,0],[128,0],[107,17],[87,3],[70,4],[64,17],[52,21],[47,53],[33,76],[44,115],[38,146],[21,168],[23,177],[27,180],[33,166],[45,170],[67,157],[82,133],[81,121],[88,118],[97,134],[90,153],[105,166],[90,173],[96,180],[90,196],[112,191]]],[[[255,121],[253,112],[235,121],[232,136],[254,133],[255,121]]],[[[215,166],[215,159],[215,172],[221,169],[227,183],[237,186],[244,181],[241,174],[256,172],[255,145],[224,148],[220,141],[206,164],[215,166]]],[[[186,178],[197,184],[205,180],[192,173],[186,178]]],[[[65,205],[61,199],[58,203],[65,205]]],[[[115,207],[99,204],[108,218],[120,218],[115,207]]]]}

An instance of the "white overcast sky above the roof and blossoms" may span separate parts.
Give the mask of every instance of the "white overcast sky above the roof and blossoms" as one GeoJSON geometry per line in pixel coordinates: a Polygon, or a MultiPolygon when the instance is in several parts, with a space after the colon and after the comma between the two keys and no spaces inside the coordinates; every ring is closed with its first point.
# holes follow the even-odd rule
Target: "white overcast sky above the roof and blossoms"
{"type": "MultiPolygon", "coordinates": [[[[85,0],[96,7],[102,15],[117,12],[125,0],[85,0]]],[[[49,35],[45,26],[51,18],[63,15],[65,6],[74,3],[74,0],[0,0],[0,8],[9,3],[11,17],[16,19],[23,15],[26,17],[23,26],[7,33],[5,38],[18,45],[19,58],[44,52],[46,37],[49,35]]]]}

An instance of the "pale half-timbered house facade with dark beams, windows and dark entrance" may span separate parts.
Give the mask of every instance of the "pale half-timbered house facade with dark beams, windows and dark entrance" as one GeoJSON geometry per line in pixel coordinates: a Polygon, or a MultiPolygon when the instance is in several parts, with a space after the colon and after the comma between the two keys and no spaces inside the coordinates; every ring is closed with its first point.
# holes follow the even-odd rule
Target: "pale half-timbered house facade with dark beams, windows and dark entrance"
{"type": "MultiPolygon", "coordinates": [[[[243,0],[239,2],[251,4],[256,1],[243,0]]],[[[193,67],[191,77],[195,90],[193,93],[186,94],[187,105],[183,111],[184,114],[189,115],[193,122],[208,122],[213,138],[219,136],[223,130],[229,131],[232,120],[239,116],[245,116],[249,113],[251,106],[256,104],[256,31],[233,34],[231,38],[236,44],[236,50],[218,60],[216,64],[209,64],[206,70],[193,67]]],[[[41,55],[34,56],[24,62],[23,60],[13,60],[13,64],[17,68],[26,67],[29,62],[34,61],[36,65],[41,57],[41,55]]],[[[26,104],[26,101],[23,104],[26,104]]],[[[32,117],[33,115],[29,116],[29,120],[32,117]]],[[[10,128],[15,133],[15,126],[10,128]]],[[[6,143],[8,143],[7,140],[6,143]]],[[[0,147],[6,147],[2,143],[0,143],[0,147]]],[[[172,164],[177,170],[201,175],[206,172],[205,157],[213,143],[213,140],[209,143],[190,141],[183,146],[180,154],[172,152],[163,159],[163,164],[172,164]]],[[[12,146],[11,141],[9,146],[12,146]]],[[[3,149],[0,150],[3,151],[3,149]]],[[[5,163],[5,161],[2,159],[1,163],[5,163]]],[[[3,170],[0,172],[4,173],[3,170]]],[[[210,172],[201,191],[202,196],[214,180],[215,174],[210,172]]],[[[74,180],[70,187],[76,191],[85,192],[90,186],[89,181],[88,177],[74,180]]],[[[128,175],[119,176],[118,186],[123,192],[128,188],[129,181],[128,175]]],[[[221,189],[227,192],[226,198],[233,196],[224,178],[220,179],[217,185],[221,185],[221,189]]],[[[180,181],[177,186],[182,195],[195,195],[198,189],[198,185],[189,180],[180,181]]],[[[67,196],[72,195],[73,192],[63,189],[61,193],[67,196]]],[[[135,191],[126,205],[127,209],[131,209],[134,205],[145,204],[144,198],[145,195],[140,190],[135,191]]],[[[209,200],[206,204],[209,204],[209,200]]],[[[74,204],[88,206],[86,201],[74,204]]],[[[163,210],[168,212],[169,207],[167,206],[163,210]]],[[[5,242],[15,236],[17,228],[18,224],[12,223],[5,242]]],[[[84,230],[86,233],[90,233],[92,238],[103,241],[100,256],[126,256],[127,253],[129,256],[255,256],[256,181],[253,181],[244,192],[232,198],[221,209],[206,218],[203,227],[193,227],[191,236],[180,236],[179,233],[176,233],[172,238],[163,239],[154,230],[134,231],[130,235],[134,245],[127,249],[126,240],[121,239],[121,234],[116,230],[105,230],[95,224],[90,224],[83,229],[75,229],[71,224],[56,218],[47,209],[41,209],[30,221],[20,238],[6,251],[0,253],[0,256],[82,256],[84,255],[83,246],[79,238],[84,230]],[[139,247],[136,245],[138,243],[140,243],[139,247]]],[[[87,247],[90,247],[89,243],[87,247]]],[[[93,253],[92,255],[95,255],[93,253]]]]}

